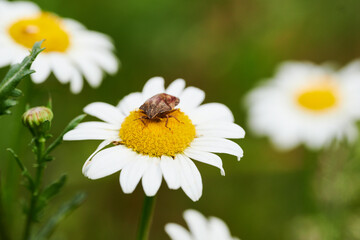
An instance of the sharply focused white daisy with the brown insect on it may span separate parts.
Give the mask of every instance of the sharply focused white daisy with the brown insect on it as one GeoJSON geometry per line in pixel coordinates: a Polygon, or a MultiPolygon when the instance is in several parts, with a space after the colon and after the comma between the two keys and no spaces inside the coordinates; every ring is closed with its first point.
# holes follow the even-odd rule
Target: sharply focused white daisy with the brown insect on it
{"type": "MultiPolygon", "coordinates": [[[[83,174],[90,179],[121,170],[120,185],[124,193],[132,193],[142,179],[145,194],[154,196],[164,177],[170,189],[182,188],[197,201],[203,186],[200,172],[191,159],[215,166],[224,174],[221,158],[212,152],[235,155],[240,160],[242,149],[226,138],[245,135],[225,105],[201,105],[204,98],[202,90],[185,88],[183,79],[175,80],[165,89],[164,79],[155,77],[145,84],[142,92],[127,95],[116,107],[101,102],[86,106],[85,113],[104,122],[81,123],[64,140],[104,140],[84,164],[83,174]],[[139,107],[143,109],[149,98],[160,93],[180,103],[173,111],[149,119],[149,114],[139,107]],[[101,150],[111,143],[115,146],[101,150]]],[[[155,105],[150,109],[164,102],[152,103],[155,105]]]]}

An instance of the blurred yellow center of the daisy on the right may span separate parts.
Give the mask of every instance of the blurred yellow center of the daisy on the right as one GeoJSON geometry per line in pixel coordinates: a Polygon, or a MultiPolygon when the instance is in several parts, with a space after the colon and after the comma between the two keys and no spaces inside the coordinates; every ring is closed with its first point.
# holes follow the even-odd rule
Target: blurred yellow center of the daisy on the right
{"type": "Polygon", "coordinates": [[[329,80],[326,77],[323,81],[302,89],[297,95],[298,104],[314,112],[335,107],[339,96],[335,84],[329,80]]]}

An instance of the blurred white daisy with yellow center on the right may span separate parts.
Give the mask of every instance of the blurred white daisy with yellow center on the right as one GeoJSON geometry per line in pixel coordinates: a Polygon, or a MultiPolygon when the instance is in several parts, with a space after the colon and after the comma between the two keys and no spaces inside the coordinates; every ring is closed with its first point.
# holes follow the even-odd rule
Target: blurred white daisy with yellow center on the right
{"type": "Polygon", "coordinates": [[[282,64],[273,79],[248,95],[250,127],[283,150],[354,141],[360,117],[359,65],[335,71],[307,62],[282,64]]]}

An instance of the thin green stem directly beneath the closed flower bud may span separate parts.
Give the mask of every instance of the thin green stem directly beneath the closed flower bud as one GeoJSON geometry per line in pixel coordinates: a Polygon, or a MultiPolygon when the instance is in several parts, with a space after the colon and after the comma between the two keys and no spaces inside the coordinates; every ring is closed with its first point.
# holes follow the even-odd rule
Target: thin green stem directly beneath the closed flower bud
{"type": "Polygon", "coordinates": [[[44,137],[35,139],[35,146],[37,149],[37,166],[36,166],[37,168],[36,168],[36,176],[34,181],[34,189],[32,190],[31,193],[30,207],[25,223],[23,240],[31,239],[31,229],[35,218],[34,214],[36,213],[36,205],[40,194],[41,180],[45,168],[45,161],[44,161],[45,141],[46,139],[44,137]]]}

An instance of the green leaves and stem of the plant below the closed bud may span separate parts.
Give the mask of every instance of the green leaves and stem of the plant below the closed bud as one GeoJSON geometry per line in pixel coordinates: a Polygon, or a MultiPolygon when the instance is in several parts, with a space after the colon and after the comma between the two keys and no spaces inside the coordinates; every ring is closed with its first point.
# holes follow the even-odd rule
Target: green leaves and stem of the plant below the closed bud
{"type": "MultiPolygon", "coordinates": [[[[48,104],[51,107],[51,102],[48,104]]],[[[39,107],[38,107],[39,108],[39,107]]],[[[44,107],[42,107],[44,108],[44,107]]],[[[33,108],[37,109],[37,108],[33,108]]],[[[28,110],[31,111],[32,109],[28,110]]],[[[50,110],[50,109],[48,109],[50,110]]],[[[51,110],[50,110],[51,111],[51,110]]],[[[45,119],[42,121],[40,126],[46,124],[46,131],[38,131],[34,132],[33,128],[29,127],[30,132],[33,135],[33,139],[31,140],[32,150],[36,156],[36,163],[34,165],[36,172],[35,176],[32,176],[27,170],[24,163],[21,161],[19,156],[14,152],[14,150],[8,148],[7,150],[12,154],[15,159],[17,165],[21,170],[21,174],[24,178],[24,185],[26,189],[28,189],[30,193],[30,201],[26,204],[23,204],[23,212],[27,217],[25,230],[24,230],[24,239],[31,239],[32,225],[35,222],[39,222],[41,217],[43,216],[45,208],[48,206],[50,200],[55,197],[64,187],[67,176],[64,174],[58,180],[53,183],[47,185],[46,187],[42,187],[42,176],[44,174],[44,170],[49,161],[54,158],[50,156],[50,152],[58,147],[62,143],[62,138],[64,134],[71,129],[75,128],[85,117],[86,115],[80,115],[74,118],[62,131],[62,133],[55,139],[53,143],[51,143],[46,148],[46,141],[51,137],[48,133],[51,126],[52,116],[49,119],[45,119]]],[[[62,219],[64,219],[67,215],[69,215],[73,210],[80,206],[80,204],[84,201],[85,195],[83,193],[77,194],[71,201],[65,203],[59,211],[53,215],[50,220],[47,221],[47,224],[40,231],[39,236],[36,239],[47,239],[53,233],[56,226],[60,223],[62,219]]],[[[1,221],[1,216],[0,216],[1,221]]],[[[0,229],[4,225],[0,222],[0,229]]]]}

